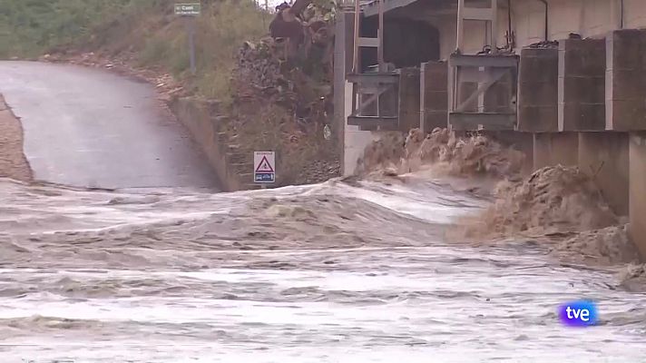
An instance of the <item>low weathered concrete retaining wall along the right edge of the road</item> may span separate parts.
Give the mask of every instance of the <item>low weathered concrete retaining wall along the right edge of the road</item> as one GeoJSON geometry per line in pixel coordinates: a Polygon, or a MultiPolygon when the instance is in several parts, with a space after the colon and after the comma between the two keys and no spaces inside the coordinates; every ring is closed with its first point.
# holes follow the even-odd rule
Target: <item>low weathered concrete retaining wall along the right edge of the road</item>
{"type": "MultiPolygon", "coordinates": [[[[211,112],[211,107],[210,103],[191,98],[181,98],[171,103],[172,112],[189,129],[193,140],[201,146],[210,165],[218,174],[224,191],[240,191],[243,188],[238,173],[231,166],[233,161],[229,160],[225,142],[220,140],[220,118],[211,112]]],[[[253,166],[250,165],[250,172],[252,169],[253,166]]]]}

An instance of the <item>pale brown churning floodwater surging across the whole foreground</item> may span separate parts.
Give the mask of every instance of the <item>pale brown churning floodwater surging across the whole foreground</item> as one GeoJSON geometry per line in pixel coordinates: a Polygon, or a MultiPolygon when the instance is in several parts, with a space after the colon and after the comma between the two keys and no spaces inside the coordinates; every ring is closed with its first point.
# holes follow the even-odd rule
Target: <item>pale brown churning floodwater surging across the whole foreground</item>
{"type": "Polygon", "coordinates": [[[443,239],[449,185],[78,191],[0,181],[2,362],[640,362],[646,296],[531,241],[443,239]],[[563,328],[559,303],[598,302],[563,328]]]}

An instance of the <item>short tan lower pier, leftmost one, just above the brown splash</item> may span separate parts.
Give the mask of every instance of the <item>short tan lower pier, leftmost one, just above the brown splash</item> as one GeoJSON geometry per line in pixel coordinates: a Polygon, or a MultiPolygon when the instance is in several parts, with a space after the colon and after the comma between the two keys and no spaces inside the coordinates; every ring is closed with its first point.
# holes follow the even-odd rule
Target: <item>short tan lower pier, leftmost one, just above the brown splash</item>
{"type": "Polygon", "coordinates": [[[533,134],[533,168],[561,164],[578,164],[579,135],[577,132],[545,132],[533,134]]]}

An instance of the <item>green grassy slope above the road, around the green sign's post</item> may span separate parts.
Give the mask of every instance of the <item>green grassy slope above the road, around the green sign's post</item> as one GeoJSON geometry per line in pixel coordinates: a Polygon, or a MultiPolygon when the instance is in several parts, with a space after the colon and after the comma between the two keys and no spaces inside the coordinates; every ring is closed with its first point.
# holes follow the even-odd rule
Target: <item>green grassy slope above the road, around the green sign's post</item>
{"type": "MultiPolygon", "coordinates": [[[[197,20],[194,86],[226,98],[233,54],[267,33],[269,15],[252,0],[202,0],[197,20]]],[[[74,48],[132,54],[143,67],[188,77],[186,19],[170,0],[0,0],[0,58],[28,58],[74,48]]]]}

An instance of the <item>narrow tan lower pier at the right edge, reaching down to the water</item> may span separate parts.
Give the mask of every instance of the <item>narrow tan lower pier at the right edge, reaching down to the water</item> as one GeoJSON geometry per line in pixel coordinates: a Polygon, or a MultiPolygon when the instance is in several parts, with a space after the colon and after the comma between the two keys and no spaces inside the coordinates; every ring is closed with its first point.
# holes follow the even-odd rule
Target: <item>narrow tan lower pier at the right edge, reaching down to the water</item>
{"type": "Polygon", "coordinates": [[[646,260],[646,132],[630,136],[630,235],[646,260]]]}

